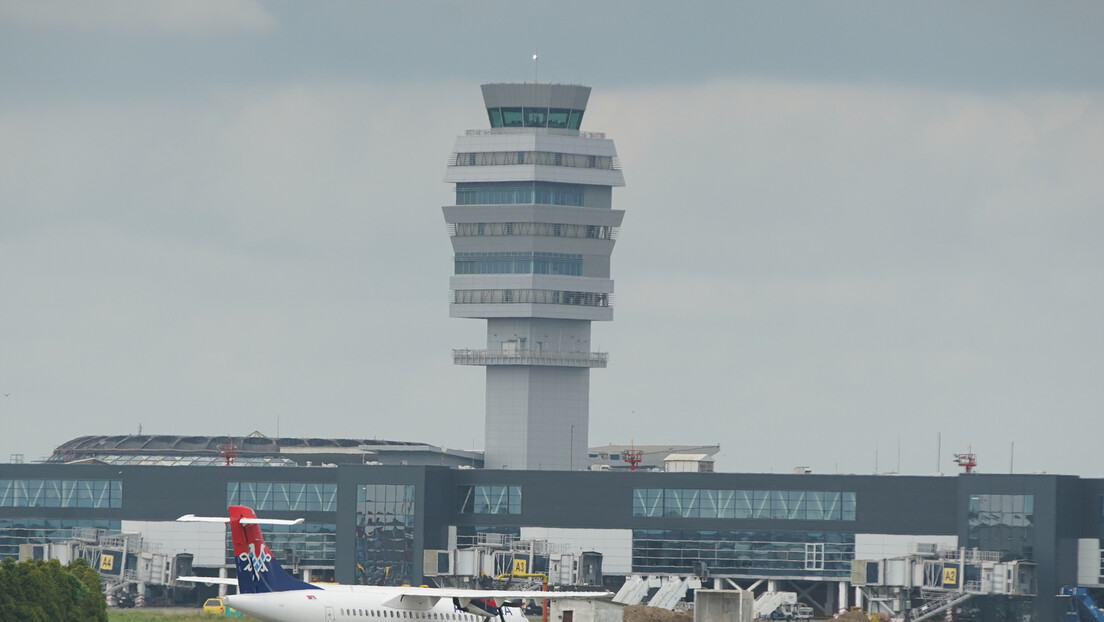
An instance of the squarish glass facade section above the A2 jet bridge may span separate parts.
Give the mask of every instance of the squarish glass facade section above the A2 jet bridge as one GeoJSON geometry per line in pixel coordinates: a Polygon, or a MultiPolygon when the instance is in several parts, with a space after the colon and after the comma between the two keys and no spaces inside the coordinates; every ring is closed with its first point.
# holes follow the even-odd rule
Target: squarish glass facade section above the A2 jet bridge
{"type": "Polygon", "coordinates": [[[967,547],[1034,558],[1034,495],[970,495],[967,547]]]}

